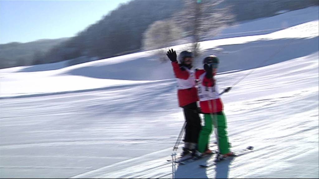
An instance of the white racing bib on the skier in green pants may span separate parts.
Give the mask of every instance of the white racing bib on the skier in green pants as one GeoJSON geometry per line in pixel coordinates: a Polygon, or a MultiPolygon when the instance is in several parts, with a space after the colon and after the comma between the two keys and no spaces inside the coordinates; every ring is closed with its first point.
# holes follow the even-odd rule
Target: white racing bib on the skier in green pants
{"type": "Polygon", "coordinates": [[[219,93],[218,93],[218,87],[216,82],[213,87],[207,87],[203,85],[205,74],[206,73],[199,76],[199,82],[197,84],[197,93],[198,93],[199,101],[208,101],[211,99],[218,99],[219,93]]]}

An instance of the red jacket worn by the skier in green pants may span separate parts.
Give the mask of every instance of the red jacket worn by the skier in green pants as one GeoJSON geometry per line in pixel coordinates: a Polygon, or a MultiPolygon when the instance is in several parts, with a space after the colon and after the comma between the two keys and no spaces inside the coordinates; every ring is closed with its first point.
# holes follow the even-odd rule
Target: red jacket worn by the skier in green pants
{"type": "MultiPolygon", "coordinates": [[[[205,73],[204,69],[196,70],[195,77],[198,80],[199,76],[205,73]]],[[[214,86],[215,80],[214,79],[208,79],[206,76],[203,79],[203,85],[204,86],[214,86]]],[[[220,98],[218,99],[212,99],[207,101],[200,101],[199,105],[201,107],[201,110],[203,113],[214,113],[214,112],[220,112],[223,111],[223,103],[220,98]]]]}

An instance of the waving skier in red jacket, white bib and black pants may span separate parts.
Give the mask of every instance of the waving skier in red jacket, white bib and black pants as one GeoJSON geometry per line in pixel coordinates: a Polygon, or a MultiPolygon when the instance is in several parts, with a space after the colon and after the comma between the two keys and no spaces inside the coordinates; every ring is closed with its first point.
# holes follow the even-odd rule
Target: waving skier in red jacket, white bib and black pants
{"type": "Polygon", "coordinates": [[[186,120],[184,147],[181,154],[181,157],[184,157],[196,150],[201,129],[201,119],[197,112],[198,97],[195,88],[195,74],[192,69],[193,54],[191,51],[182,51],[179,54],[180,64],[177,62],[177,55],[173,49],[169,50],[166,55],[172,61],[178,84],[178,102],[179,106],[183,108],[186,120]]]}

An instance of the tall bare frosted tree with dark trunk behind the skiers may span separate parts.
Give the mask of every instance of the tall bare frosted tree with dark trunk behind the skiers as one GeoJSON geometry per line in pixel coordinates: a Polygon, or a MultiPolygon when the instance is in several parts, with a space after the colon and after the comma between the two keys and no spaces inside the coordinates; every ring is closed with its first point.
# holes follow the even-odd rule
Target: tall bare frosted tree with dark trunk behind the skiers
{"type": "Polygon", "coordinates": [[[186,0],[181,12],[174,15],[179,26],[192,37],[192,50],[198,55],[198,42],[216,36],[234,15],[227,7],[219,6],[223,0],[186,0]]]}

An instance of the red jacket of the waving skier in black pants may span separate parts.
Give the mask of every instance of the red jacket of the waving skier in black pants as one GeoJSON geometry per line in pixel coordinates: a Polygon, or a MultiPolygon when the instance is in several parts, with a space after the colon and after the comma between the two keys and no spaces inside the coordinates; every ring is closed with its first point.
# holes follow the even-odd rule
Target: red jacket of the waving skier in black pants
{"type": "MultiPolygon", "coordinates": [[[[172,62],[174,74],[176,78],[187,80],[189,78],[189,72],[186,70],[182,70],[179,64],[176,62],[172,62]]],[[[191,104],[198,101],[197,97],[197,89],[194,87],[189,89],[178,89],[178,103],[180,107],[186,106],[187,104],[191,104]]]]}

